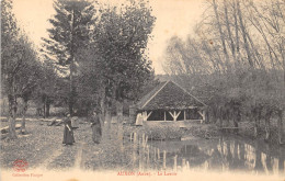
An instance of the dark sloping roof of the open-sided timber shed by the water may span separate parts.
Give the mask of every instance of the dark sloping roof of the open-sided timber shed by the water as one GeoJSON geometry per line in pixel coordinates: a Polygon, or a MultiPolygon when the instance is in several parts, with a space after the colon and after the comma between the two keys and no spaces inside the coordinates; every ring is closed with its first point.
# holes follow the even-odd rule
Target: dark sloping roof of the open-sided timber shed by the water
{"type": "Polygon", "coordinates": [[[136,105],[138,110],[182,110],[206,104],[175,82],[167,81],[142,97],[136,105]]]}

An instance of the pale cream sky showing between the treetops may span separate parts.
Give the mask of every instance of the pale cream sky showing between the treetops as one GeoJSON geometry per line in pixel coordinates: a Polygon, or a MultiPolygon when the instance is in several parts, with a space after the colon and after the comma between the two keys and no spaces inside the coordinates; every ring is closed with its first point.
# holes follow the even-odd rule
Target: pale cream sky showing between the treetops
{"type": "MultiPolygon", "coordinates": [[[[111,0],[99,0],[101,2],[111,0]]],[[[148,54],[157,75],[164,73],[162,64],[168,39],[176,35],[185,38],[205,11],[205,0],[149,0],[152,15],[157,18],[148,54]]],[[[112,2],[111,2],[112,3],[112,2]]],[[[14,13],[30,38],[39,46],[47,37],[48,19],[55,13],[53,0],[13,0],[14,13]]]]}

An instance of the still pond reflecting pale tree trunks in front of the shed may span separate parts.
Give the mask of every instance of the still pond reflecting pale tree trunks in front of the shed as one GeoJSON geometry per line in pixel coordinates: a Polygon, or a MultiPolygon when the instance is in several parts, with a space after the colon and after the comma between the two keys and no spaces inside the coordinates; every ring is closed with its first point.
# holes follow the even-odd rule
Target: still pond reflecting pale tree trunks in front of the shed
{"type": "Polygon", "coordinates": [[[240,137],[148,140],[137,151],[140,169],[285,173],[285,148],[240,137]]]}

